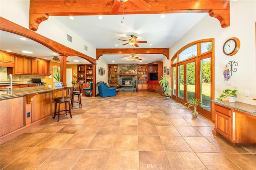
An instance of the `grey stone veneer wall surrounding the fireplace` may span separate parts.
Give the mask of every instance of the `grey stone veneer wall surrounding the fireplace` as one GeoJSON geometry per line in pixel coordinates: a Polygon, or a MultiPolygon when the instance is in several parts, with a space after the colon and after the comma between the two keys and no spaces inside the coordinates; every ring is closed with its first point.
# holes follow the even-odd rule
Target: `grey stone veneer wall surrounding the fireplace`
{"type": "MultiPolygon", "coordinates": [[[[137,68],[137,64],[117,64],[118,74],[125,74],[126,71],[128,71],[129,74],[137,74],[137,68]]],[[[133,75],[122,75],[122,77],[118,75],[117,83],[120,86],[122,86],[122,78],[132,78],[133,87],[137,88],[137,75],[135,75],[134,77],[133,75]]]]}

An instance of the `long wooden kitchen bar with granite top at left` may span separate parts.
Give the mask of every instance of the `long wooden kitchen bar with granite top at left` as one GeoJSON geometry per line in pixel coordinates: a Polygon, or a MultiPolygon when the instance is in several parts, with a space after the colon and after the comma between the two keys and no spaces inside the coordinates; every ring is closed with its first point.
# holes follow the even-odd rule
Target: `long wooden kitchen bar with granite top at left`
{"type": "Polygon", "coordinates": [[[62,96],[62,89],[34,86],[0,91],[0,144],[52,120],[54,98],[62,96]]]}

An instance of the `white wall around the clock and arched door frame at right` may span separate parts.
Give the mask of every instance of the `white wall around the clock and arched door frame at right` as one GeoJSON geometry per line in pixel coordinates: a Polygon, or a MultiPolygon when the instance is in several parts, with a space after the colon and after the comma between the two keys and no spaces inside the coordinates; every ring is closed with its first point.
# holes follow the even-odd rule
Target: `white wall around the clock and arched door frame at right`
{"type": "MultiPolygon", "coordinates": [[[[230,26],[222,28],[216,18],[205,16],[172,47],[170,58],[193,41],[200,39],[215,39],[215,99],[225,89],[238,90],[237,101],[256,105],[256,52],[255,52],[255,21],[256,2],[254,0],[230,1],[230,26]],[[237,37],[240,40],[240,50],[236,55],[224,55],[222,47],[224,42],[237,37]],[[228,81],[224,81],[223,71],[229,61],[238,63],[237,71],[232,73],[228,81]],[[220,86],[216,83],[220,82],[220,86]],[[249,97],[244,96],[244,91],[249,90],[249,97]]],[[[164,59],[164,65],[167,63],[164,59]]],[[[168,67],[168,66],[167,66],[168,67]]]]}

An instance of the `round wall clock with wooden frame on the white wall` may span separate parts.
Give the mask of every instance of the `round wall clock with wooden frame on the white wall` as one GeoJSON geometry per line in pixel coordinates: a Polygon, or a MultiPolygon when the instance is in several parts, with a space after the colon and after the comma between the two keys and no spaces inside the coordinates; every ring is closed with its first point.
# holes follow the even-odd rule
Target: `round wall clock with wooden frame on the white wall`
{"type": "Polygon", "coordinates": [[[240,41],[238,38],[230,38],[223,45],[223,53],[227,56],[232,56],[238,52],[240,41]]]}

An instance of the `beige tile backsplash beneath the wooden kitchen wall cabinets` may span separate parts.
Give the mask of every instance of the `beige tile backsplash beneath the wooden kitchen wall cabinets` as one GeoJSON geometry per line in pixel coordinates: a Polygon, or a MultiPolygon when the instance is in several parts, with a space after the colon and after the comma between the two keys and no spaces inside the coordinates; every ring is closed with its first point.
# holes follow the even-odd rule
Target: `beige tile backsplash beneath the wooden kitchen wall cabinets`
{"type": "MultiPolygon", "coordinates": [[[[41,78],[41,82],[46,82],[46,76],[34,75],[12,75],[13,82],[28,83],[32,82],[32,78],[41,78]]],[[[7,67],[0,67],[0,82],[8,82],[9,74],[7,74],[7,67]]]]}

